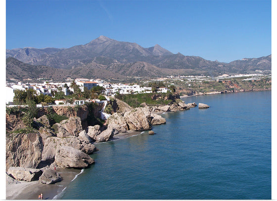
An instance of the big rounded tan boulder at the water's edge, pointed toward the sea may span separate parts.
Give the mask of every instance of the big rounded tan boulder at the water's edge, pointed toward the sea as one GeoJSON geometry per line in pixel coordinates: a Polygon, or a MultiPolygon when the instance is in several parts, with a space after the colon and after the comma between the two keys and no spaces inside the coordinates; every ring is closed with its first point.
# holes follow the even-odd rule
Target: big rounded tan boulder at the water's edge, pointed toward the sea
{"type": "Polygon", "coordinates": [[[61,146],[56,152],[55,162],[61,168],[84,168],[94,163],[94,160],[78,149],[61,146]]]}

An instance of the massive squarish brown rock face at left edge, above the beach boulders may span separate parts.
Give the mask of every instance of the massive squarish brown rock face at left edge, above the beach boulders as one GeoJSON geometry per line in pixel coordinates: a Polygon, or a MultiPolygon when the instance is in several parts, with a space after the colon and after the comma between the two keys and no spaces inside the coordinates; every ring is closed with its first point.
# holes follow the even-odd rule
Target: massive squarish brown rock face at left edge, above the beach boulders
{"type": "Polygon", "coordinates": [[[40,133],[31,132],[11,135],[6,137],[6,169],[10,166],[37,168],[42,159],[43,151],[40,133]]]}

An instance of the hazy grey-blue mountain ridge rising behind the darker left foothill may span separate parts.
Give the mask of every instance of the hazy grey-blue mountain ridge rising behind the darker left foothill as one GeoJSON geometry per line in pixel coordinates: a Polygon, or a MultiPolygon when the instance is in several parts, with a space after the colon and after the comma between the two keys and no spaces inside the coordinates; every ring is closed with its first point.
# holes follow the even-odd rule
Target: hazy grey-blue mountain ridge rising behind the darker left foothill
{"type": "Polygon", "coordinates": [[[116,66],[117,70],[113,69],[113,73],[120,72],[122,76],[164,76],[168,73],[217,76],[223,73],[238,74],[271,70],[271,55],[225,63],[206,60],[199,56],[185,56],[180,52],[173,54],[159,44],[144,48],[135,42],[118,41],[105,36],[99,36],[84,45],[69,48],[7,49],[7,57],[14,57],[29,65],[66,70],[97,66],[99,71],[106,72],[112,71],[111,67],[116,66]],[[145,69],[142,69],[143,65],[145,69]],[[126,69],[127,67],[131,69],[126,69]],[[136,68],[139,68],[141,72],[136,68]],[[151,72],[150,69],[153,71],[151,72]],[[160,72],[153,73],[157,69],[160,72]]]}

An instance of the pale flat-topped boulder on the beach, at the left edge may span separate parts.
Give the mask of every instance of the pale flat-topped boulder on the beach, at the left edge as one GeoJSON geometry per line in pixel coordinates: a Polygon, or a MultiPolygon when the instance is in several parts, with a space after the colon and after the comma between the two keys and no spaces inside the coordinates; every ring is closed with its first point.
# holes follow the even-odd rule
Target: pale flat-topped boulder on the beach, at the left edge
{"type": "Polygon", "coordinates": [[[40,169],[25,167],[9,167],[7,174],[20,181],[36,181],[42,175],[40,169]]]}

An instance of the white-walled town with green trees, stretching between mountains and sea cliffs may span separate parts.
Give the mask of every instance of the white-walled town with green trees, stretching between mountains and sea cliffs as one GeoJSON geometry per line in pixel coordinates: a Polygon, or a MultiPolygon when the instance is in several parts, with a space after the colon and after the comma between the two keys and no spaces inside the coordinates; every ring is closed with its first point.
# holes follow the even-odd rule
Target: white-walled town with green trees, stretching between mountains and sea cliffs
{"type": "Polygon", "coordinates": [[[139,83],[110,83],[101,79],[89,80],[82,78],[75,80],[68,78],[63,82],[48,80],[43,81],[43,83],[29,83],[26,80],[24,83],[23,81],[6,81],[5,88],[7,106],[26,105],[26,96],[31,94],[36,99],[37,107],[42,107],[47,105],[81,105],[85,101],[108,100],[109,96],[116,94],[167,93],[173,89],[174,91],[179,90],[180,95],[193,95],[191,91],[195,90],[199,93],[202,90],[203,94],[205,92],[206,94],[215,94],[216,92],[227,92],[228,89],[226,88],[234,92],[246,90],[245,87],[250,87],[249,90],[255,90],[255,87],[257,89],[261,87],[262,89],[271,89],[271,74],[240,74],[233,76],[224,74],[215,78],[210,76],[167,76],[152,80],[144,79],[139,83]]]}

